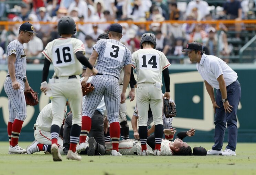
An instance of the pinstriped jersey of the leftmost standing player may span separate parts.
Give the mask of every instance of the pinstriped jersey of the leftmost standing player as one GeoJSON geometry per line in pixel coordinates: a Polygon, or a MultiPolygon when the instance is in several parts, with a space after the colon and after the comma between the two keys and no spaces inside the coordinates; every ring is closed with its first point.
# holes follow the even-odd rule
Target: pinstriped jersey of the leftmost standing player
{"type": "MultiPolygon", "coordinates": [[[[23,45],[17,39],[10,42],[9,45],[7,46],[7,65],[8,56],[13,53],[16,55],[16,61],[14,63],[15,75],[22,78],[26,78],[26,52],[23,45]]],[[[10,75],[8,66],[7,69],[7,75],[10,75]]]]}

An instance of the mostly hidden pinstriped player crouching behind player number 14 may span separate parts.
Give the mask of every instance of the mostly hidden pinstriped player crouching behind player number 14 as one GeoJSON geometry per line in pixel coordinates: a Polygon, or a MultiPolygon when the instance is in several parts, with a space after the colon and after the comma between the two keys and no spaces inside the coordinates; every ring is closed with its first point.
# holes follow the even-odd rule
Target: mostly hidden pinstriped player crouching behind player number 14
{"type": "MultiPolygon", "coordinates": [[[[169,101],[174,103],[174,101],[171,98],[169,99],[169,101]]],[[[131,118],[131,126],[132,126],[132,129],[134,131],[134,138],[135,139],[139,139],[137,120],[138,120],[138,113],[137,113],[137,107],[135,107],[134,114],[132,115],[132,118],[131,118]]],[[[173,118],[166,118],[166,116],[163,113],[163,128],[164,129],[172,129],[172,120],[173,120],[173,118]]],[[[148,124],[147,125],[149,126],[152,122],[153,122],[153,114],[152,114],[151,108],[149,107],[149,110],[148,110],[148,124]]],[[[154,132],[154,125],[148,130],[148,135],[152,134],[153,132],[154,132]]],[[[170,136],[165,135],[165,138],[167,140],[172,141],[173,140],[173,135],[170,135],[170,136]]]]}

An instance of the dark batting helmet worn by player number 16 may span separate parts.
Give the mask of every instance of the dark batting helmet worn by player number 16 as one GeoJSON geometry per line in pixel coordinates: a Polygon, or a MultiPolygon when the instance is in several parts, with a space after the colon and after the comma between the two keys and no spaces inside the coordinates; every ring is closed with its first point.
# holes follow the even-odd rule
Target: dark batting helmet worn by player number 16
{"type": "Polygon", "coordinates": [[[61,34],[72,34],[76,33],[76,23],[70,16],[64,16],[58,21],[58,33],[61,34]]]}

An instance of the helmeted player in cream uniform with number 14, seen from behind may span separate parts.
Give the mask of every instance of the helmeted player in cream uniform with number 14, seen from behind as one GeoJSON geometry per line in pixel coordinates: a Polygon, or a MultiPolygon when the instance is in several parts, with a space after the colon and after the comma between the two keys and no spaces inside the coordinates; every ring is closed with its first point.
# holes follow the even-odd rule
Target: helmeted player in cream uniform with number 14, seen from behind
{"type": "Polygon", "coordinates": [[[147,121],[149,106],[153,113],[155,124],[154,135],[156,136],[156,147],[154,155],[161,155],[161,142],[163,137],[163,98],[170,98],[170,63],[166,56],[154,49],[156,48],[156,37],[151,33],[143,34],[139,50],[132,53],[135,62],[132,67],[136,68],[137,91],[136,107],[139,116],[139,137],[142,147],[141,155],[147,155],[147,121]],[[166,92],[162,96],[162,72],[166,92]]]}

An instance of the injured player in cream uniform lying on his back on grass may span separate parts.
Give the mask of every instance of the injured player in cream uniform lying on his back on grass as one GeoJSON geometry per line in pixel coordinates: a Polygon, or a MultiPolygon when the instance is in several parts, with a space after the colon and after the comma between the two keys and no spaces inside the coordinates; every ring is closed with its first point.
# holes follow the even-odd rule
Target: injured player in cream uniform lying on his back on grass
{"type": "MultiPolygon", "coordinates": [[[[164,129],[165,134],[175,134],[176,130],[164,129]]],[[[183,142],[186,136],[192,137],[195,135],[195,129],[190,129],[188,131],[179,132],[174,141],[169,141],[166,139],[162,140],[161,143],[161,154],[162,155],[191,155],[191,147],[183,142]]],[[[155,148],[155,138],[154,134],[147,139],[147,153],[148,155],[154,155],[155,148]]],[[[105,143],[106,154],[110,154],[112,150],[111,142],[105,143]]],[[[141,144],[139,140],[128,139],[121,140],[119,142],[119,151],[122,155],[141,155],[141,144]]]]}

